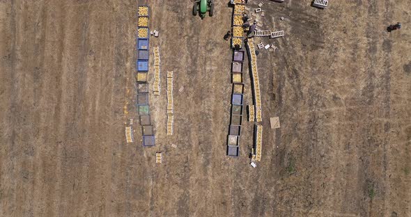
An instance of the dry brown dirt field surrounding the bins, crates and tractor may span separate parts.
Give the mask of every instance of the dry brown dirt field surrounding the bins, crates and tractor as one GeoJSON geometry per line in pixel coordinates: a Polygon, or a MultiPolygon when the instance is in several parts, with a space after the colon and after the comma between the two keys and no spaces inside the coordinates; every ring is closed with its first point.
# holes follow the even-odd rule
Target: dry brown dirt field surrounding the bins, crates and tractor
{"type": "Polygon", "coordinates": [[[286,35],[256,38],[279,47],[257,58],[257,168],[245,119],[240,157],[226,156],[226,1],[203,20],[188,0],[0,1],[0,216],[411,216],[411,1],[261,1],[263,29],[286,35]],[[137,3],[160,31],[155,147],[141,146],[134,106],[137,3]],[[403,29],[387,33],[396,22],[403,29]]]}

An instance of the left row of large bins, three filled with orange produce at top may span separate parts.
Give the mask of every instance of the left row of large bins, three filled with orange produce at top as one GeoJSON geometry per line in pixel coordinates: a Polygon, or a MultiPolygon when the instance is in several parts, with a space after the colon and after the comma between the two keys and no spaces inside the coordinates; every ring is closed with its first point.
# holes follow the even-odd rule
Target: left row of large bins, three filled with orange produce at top
{"type": "Polygon", "coordinates": [[[149,29],[148,6],[138,6],[137,11],[137,113],[139,115],[143,146],[154,146],[154,127],[151,123],[150,105],[148,100],[148,60],[149,60],[149,29]]]}

